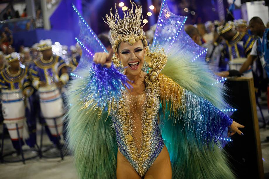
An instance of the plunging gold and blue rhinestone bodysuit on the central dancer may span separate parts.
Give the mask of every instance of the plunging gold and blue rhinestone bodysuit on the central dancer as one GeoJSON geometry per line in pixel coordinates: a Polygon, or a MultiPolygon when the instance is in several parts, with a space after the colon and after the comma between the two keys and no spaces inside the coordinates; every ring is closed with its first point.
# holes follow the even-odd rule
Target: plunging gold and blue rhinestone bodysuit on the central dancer
{"type": "Polygon", "coordinates": [[[164,146],[157,119],[160,102],[154,91],[148,85],[139,95],[123,91],[123,98],[111,109],[118,148],[140,176],[145,175],[164,146]]]}

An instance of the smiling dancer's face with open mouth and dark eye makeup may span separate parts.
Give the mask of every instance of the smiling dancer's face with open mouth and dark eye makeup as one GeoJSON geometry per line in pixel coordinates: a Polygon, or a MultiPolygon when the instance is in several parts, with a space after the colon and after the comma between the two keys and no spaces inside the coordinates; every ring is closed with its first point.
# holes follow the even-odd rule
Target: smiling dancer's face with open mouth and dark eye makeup
{"type": "Polygon", "coordinates": [[[142,70],[145,54],[146,50],[142,40],[139,40],[135,42],[134,45],[130,45],[127,42],[121,42],[116,56],[121,61],[123,67],[125,67],[125,74],[138,75],[142,70]]]}

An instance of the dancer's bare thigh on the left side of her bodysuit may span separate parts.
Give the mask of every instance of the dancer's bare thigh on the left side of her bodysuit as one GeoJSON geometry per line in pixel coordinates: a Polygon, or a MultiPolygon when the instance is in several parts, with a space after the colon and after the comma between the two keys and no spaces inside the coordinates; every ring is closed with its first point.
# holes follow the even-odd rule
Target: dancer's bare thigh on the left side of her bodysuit
{"type": "Polygon", "coordinates": [[[130,162],[118,150],[117,154],[117,179],[141,179],[130,162]]]}

